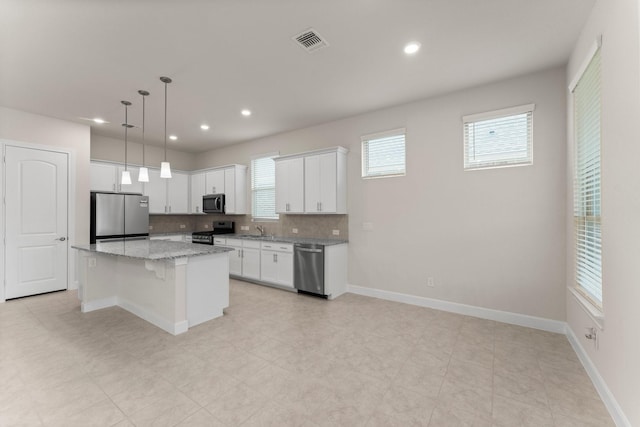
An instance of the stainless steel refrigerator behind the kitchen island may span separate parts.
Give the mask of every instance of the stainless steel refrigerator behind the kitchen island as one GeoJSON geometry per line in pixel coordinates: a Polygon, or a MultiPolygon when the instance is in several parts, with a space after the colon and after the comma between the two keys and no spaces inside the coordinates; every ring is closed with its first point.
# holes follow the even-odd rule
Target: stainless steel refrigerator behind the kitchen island
{"type": "Polygon", "coordinates": [[[91,192],[90,243],[149,236],[149,197],[91,192]]]}

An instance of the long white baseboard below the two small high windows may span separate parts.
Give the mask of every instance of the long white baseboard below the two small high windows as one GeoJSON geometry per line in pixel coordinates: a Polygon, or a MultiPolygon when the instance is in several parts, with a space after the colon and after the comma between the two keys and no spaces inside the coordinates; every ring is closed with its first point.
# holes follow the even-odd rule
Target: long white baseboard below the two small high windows
{"type": "Polygon", "coordinates": [[[384,291],[381,289],[365,288],[363,286],[348,285],[347,291],[352,294],[385,299],[388,301],[403,302],[405,304],[420,307],[433,308],[435,310],[448,311],[465,316],[479,317],[481,319],[495,320],[512,325],[526,326],[527,328],[541,329],[543,331],[566,333],[566,323],[559,320],[544,319],[542,317],[528,316],[526,314],[511,313],[508,311],[493,310],[490,308],[476,307],[457,302],[442,301],[433,298],[419,297],[398,292],[384,291]]]}

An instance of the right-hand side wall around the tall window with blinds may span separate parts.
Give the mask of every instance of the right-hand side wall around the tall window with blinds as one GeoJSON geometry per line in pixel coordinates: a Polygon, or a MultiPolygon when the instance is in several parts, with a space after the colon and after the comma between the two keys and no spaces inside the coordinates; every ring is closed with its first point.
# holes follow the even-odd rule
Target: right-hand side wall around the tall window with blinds
{"type": "MultiPolygon", "coordinates": [[[[636,0],[599,0],[573,51],[567,84],[602,35],[602,273],[604,331],[599,348],[584,338],[594,322],[573,297],[567,322],[613,397],[640,425],[640,43],[636,0]]],[[[569,129],[569,152],[573,135],[569,129]]],[[[571,195],[571,181],[568,181],[571,195]]],[[[571,197],[567,199],[567,284],[573,286],[571,197]]]]}

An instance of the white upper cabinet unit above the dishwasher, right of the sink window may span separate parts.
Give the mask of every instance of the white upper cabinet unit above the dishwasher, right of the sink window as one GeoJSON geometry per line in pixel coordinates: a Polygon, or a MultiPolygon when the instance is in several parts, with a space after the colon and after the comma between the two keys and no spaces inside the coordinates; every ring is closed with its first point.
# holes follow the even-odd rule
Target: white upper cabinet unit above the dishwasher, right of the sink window
{"type": "Polygon", "coordinates": [[[278,213],[347,213],[345,148],[277,157],[275,161],[278,213]]]}

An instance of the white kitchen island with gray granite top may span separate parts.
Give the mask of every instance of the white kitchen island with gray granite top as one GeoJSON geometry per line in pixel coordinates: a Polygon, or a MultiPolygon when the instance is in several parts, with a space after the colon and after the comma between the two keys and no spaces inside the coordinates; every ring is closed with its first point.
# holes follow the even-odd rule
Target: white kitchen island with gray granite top
{"type": "Polygon", "coordinates": [[[229,306],[231,249],[148,239],[72,247],[83,313],[117,305],[178,335],[229,306]]]}

